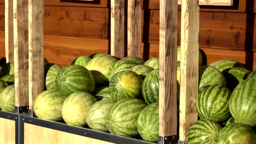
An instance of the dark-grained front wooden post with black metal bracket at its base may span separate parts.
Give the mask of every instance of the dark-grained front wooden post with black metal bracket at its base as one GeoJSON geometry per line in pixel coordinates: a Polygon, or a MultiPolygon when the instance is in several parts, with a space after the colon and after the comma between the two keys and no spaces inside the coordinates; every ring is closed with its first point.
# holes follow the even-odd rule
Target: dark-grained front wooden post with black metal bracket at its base
{"type": "Polygon", "coordinates": [[[160,0],[159,143],[177,143],[178,1],[160,0]]]}

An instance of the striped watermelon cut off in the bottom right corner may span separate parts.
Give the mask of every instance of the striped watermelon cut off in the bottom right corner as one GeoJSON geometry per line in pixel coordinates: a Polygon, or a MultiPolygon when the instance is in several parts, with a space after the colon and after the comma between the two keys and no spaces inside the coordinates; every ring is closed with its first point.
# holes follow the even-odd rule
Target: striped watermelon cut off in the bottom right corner
{"type": "Polygon", "coordinates": [[[249,125],[232,123],[219,131],[215,143],[254,144],[256,143],[256,134],[249,125]]]}

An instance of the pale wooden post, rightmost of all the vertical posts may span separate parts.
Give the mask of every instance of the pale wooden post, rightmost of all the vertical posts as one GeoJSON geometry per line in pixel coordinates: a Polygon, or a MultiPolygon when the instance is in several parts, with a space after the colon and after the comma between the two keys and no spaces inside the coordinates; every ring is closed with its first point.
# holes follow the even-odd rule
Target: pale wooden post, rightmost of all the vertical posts
{"type": "Polygon", "coordinates": [[[198,94],[199,0],[182,1],[181,12],[181,94],[179,140],[187,140],[191,124],[197,121],[195,102],[198,94]]]}

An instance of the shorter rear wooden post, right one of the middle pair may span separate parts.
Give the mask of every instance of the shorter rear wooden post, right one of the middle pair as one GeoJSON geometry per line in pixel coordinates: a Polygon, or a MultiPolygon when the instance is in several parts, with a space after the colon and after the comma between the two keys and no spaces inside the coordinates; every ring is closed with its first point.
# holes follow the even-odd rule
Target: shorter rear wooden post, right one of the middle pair
{"type": "Polygon", "coordinates": [[[141,0],[128,1],[127,55],[141,57],[141,0]]]}

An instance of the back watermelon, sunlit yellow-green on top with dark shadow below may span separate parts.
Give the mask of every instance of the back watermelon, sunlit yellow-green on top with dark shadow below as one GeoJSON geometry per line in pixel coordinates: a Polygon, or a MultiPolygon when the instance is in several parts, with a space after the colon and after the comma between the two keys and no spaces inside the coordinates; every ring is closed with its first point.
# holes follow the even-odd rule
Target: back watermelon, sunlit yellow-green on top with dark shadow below
{"type": "Polygon", "coordinates": [[[110,74],[109,68],[113,62],[118,61],[110,55],[96,56],[86,65],[86,69],[90,70],[96,87],[108,86],[108,75],[110,74]]]}

